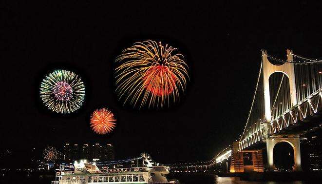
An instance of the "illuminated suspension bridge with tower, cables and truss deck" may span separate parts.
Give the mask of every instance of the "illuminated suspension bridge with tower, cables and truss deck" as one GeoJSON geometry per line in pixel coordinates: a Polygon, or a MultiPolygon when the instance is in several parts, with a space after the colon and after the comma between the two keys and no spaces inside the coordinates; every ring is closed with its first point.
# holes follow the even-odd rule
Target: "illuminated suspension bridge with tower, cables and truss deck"
{"type": "Polygon", "coordinates": [[[262,50],[256,88],[241,134],[210,161],[170,166],[174,172],[273,171],[274,146],[284,142],[294,151],[293,170],[301,171],[300,140],[305,139],[305,133],[321,128],[321,98],[321,60],[301,57],[291,50],[283,60],[262,50]],[[251,164],[244,163],[245,155],[251,164]]]}

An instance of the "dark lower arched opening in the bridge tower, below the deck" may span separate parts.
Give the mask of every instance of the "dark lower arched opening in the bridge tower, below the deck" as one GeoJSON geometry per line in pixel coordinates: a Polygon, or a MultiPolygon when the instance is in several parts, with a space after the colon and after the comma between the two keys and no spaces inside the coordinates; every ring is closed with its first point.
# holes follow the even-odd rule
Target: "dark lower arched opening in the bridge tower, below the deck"
{"type": "Polygon", "coordinates": [[[273,148],[274,167],[278,171],[294,170],[294,145],[287,141],[276,143],[273,148]]]}

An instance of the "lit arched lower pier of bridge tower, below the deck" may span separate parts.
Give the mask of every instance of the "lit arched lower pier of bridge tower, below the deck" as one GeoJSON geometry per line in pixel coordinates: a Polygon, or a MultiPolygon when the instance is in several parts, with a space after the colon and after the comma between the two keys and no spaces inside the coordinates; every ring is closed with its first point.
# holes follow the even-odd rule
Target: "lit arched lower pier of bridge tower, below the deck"
{"type": "Polygon", "coordinates": [[[277,143],[289,143],[293,147],[294,151],[294,171],[302,171],[301,166],[301,148],[300,148],[300,138],[267,138],[266,139],[266,150],[267,150],[267,164],[269,170],[274,170],[274,146],[277,143]]]}

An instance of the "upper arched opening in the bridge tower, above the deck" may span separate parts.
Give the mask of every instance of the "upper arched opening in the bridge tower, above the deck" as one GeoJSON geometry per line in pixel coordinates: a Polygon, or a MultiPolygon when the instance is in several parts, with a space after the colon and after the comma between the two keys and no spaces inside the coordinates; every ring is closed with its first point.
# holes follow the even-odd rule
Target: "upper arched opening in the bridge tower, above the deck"
{"type": "Polygon", "coordinates": [[[292,106],[289,77],[283,71],[276,71],[269,76],[268,83],[270,111],[274,120],[292,106]]]}

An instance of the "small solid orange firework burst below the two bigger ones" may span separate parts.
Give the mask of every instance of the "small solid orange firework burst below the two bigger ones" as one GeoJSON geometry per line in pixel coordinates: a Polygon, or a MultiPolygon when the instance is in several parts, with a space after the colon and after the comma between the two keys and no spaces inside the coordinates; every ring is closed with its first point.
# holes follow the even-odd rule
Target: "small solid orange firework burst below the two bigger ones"
{"type": "Polygon", "coordinates": [[[100,135],[113,131],[116,120],[114,114],[107,108],[96,109],[91,116],[91,128],[100,135]]]}

